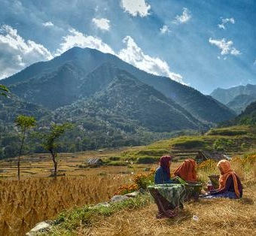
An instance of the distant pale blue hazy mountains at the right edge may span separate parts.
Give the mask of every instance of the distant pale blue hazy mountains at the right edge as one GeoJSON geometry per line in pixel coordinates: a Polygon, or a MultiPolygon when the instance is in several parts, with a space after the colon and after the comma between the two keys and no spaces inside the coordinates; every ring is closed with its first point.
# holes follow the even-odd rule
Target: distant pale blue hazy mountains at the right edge
{"type": "Polygon", "coordinates": [[[211,93],[211,96],[239,114],[248,104],[256,101],[256,85],[247,84],[230,89],[218,88],[211,93]]]}

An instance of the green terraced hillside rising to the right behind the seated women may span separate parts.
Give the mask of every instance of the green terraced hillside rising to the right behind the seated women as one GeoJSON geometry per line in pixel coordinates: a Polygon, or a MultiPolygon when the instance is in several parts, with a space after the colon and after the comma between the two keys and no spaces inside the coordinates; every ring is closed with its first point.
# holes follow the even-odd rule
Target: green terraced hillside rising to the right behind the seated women
{"type": "Polygon", "coordinates": [[[256,148],[256,129],[254,126],[229,126],[214,128],[205,135],[180,135],[156,141],[148,146],[134,147],[122,154],[123,157],[154,159],[165,153],[172,153],[175,161],[195,158],[198,151],[207,150],[210,153],[221,152],[228,156],[241,155],[247,150],[256,148]]]}

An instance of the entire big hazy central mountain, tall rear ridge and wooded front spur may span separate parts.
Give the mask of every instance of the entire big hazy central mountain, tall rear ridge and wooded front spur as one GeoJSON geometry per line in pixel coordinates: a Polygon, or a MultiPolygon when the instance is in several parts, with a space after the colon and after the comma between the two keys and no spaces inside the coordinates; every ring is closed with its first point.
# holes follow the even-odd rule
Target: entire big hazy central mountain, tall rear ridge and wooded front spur
{"type": "Polygon", "coordinates": [[[176,131],[205,130],[235,116],[211,96],[90,48],[73,47],[1,83],[16,101],[1,98],[2,127],[13,126],[20,113],[35,116],[41,128],[68,121],[76,130],[63,145],[84,143],[72,150],[145,144],[176,131]]]}

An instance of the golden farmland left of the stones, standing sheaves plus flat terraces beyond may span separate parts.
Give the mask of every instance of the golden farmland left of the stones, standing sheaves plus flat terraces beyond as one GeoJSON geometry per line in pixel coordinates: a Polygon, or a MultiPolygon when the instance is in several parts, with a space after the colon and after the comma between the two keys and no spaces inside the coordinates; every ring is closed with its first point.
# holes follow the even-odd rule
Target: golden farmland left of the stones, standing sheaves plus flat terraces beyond
{"type": "Polygon", "coordinates": [[[35,223],[53,219],[62,210],[108,201],[117,188],[131,183],[133,174],[145,165],[79,168],[87,159],[102,159],[117,150],[62,153],[59,176],[50,176],[52,162],[47,154],[23,157],[21,180],[16,160],[0,162],[0,235],[24,235],[35,223]]]}

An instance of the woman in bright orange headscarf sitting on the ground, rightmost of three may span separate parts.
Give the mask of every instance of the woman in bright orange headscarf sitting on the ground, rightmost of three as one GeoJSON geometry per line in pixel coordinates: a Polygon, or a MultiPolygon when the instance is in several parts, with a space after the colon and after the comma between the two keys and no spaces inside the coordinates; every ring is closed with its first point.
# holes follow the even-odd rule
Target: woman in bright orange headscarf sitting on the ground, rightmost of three
{"type": "Polygon", "coordinates": [[[242,183],[239,177],[231,169],[230,162],[221,160],[217,164],[221,171],[218,180],[218,189],[209,191],[209,195],[204,198],[242,198],[242,183]]]}

